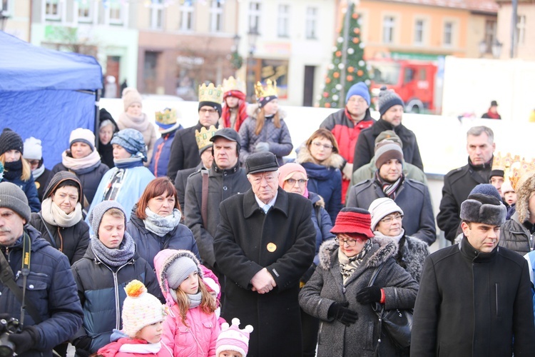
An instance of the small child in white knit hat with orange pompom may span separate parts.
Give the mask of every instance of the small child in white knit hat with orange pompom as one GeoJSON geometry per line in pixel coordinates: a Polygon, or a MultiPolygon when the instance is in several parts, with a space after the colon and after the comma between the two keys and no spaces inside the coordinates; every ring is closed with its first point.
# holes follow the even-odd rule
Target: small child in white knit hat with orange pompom
{"type": "Polygon", "coordinates": [[[133,280],[124,288],[123,330],[111,336],[116,341],[100,348],[97,357],[133,357],[148,355],[171,357],[173,351],[161,343],[165,306],[147,292],[141,281],[133,280]]]}

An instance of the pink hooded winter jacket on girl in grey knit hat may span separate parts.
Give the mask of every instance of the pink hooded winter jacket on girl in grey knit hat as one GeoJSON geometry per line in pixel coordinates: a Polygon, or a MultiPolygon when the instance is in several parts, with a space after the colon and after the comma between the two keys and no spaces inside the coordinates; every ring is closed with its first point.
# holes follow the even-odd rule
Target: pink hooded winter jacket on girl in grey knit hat
{"type": "Polygon", "coordinates": [[[173,351],[173,356],[215,357],[215,343],[220,333],[220,325],[215,313],[206,314],[199,307],[190,308],[186,313],[188,326],[185,326],[180,318],[178,305],[169,293],[165,271],[175,259],[182,256],[195,261],[198,274],[202,278],[203,271],[200,269],[200,263],[190,251],[164,249],[154,257],[156,276],[166,304],[169,306],[169,314],[163,322],[162,343],[173,351]]]}

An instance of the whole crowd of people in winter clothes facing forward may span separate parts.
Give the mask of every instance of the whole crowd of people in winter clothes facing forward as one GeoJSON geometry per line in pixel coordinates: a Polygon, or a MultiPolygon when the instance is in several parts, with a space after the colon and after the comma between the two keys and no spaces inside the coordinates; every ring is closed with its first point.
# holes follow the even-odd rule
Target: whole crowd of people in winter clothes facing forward
{"type": "Polygon", "coordinates": [[[491,129],[467,132],[435,220],[394,91],[376,121],[352,86],[295,160],[275,81],[255,94],[203,84],[198,123],[165,109],[157,138],[127,87],[124,112],[101,109],[98,139],[73,130],[51,170],[39,138],[5,128],[0,318],[20,325],[0,341],[20,356],[535,353],[535,171],[511,181],[491,129]],[[437,225],[452,246],[430,253],[437,225]]]}

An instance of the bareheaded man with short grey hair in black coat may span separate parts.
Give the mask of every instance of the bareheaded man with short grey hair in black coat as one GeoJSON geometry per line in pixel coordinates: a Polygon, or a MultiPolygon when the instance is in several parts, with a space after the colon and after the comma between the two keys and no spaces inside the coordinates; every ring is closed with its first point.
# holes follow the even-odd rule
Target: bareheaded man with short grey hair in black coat
{"type": "Polygon", "coordinates": [[[448,241],[455,240],[461,220],[461,203],[479,183],[489,183],[489,174],[496,144],[494,132],[486,126],[473,126],[467,132],[468,164],[444,176],[442,200],[437,224],[448,241]]]}

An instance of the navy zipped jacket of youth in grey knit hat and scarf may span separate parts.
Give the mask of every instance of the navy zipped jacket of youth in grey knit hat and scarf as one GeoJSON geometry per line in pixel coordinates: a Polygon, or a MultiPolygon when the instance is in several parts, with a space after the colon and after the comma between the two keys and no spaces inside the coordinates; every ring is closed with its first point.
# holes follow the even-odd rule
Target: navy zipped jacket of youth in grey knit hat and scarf
{"type": "Polygon", "coordinates": [[[126,284],[137,279],[145,284],[149,293],[163,300],[156,273],[137,252],[126,264],[113,268],[101,261],[90,245],[86,255],[73,264],[72,271],[83,306],[83,328],[78,330],[73,340],[91,337],[91,353],[110,343],[113,328],[119,330],[123,327],[121,311],[126,298],[126,284]]]}

